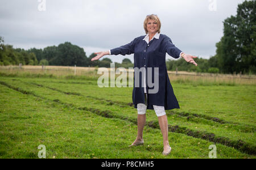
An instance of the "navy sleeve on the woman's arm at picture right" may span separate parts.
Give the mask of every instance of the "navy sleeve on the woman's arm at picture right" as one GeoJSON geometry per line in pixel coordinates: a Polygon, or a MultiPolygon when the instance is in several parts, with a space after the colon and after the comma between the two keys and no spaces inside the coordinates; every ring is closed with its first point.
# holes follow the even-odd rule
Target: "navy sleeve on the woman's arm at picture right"
{"type": "Polygon", "coordinates": [[[166,36],[164,40],[164,51],[167,52],[170,56],[174,58],[179,58],[182,51],[178,49],[174,44],[172,44],[172,40],[166,36]]]}

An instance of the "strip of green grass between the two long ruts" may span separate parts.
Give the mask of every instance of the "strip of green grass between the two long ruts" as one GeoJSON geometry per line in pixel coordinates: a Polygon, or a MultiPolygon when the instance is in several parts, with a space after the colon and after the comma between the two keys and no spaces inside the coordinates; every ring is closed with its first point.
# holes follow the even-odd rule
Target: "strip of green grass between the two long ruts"
{"type": "MultiPolygon", "coordinates": [[[[65,95],[65,94],[61,94],[60,92],[57,92],[57,91],[48,90],[47,88],[44,88],[44,87],[33,87],[28,82],[30,82],[30,81],[22,80],[22,83],[12,82],[12,81],[10,81],[9,83],[10,84],[14,83],[14,86],[19,86],[19,87],[22,87],[23,89],[29,89],[30,91],[34,91],[36,94],[48,97],[51,100],[59,99],[59,100],[65,101],[67,103],[73,103],[77,107],[86,105],[86,107],[98,108],[98,109],[102,109],[102,110],[109,110],[109,111],[112,111],[114,114],[126,115],[127,117],[137,118],[136,114],[134,114],[135,113],[134,108],[125,107],[122,109],[120,107],[116,107],[118,105],[109,105],[109,103],[107,103],[105,101],[99,101],[99,100],[97,101],[97,100],[89,99],[89,98],[84,99],[85,97],[83,97],[83,96],[76,97],[73,95],[65,95]],[[26,83],[23,83],[23,81],[26,83]],[[54,96],[56,96],[57,98],[54,96]],[[85,100],[88,101],[89,103],[88,104],[84,103],[85,100]],[[88,106],[88,105],[90,105],[90,106],[88,106]],[[123,114],[123,113],[125,113],[125,114],[123,114]]],[[[32,80],[32,82],[35,82],[35,81],[32,80]]],[[[39,82],[36,82],[36,83],[42,84],[39,82]]],[[[53,83],[53,84],[55,84],[55,83],[53,83]]],[[[75,91],[77,88],[77,87],[69,88],[68,86],[60,86],[59,84],[55,84],[55,86],[51,86],[52,84],[48,85],[47,82],[43,83],[43,85],[55,87],[62,91],[66,91],[66,90],[67,91],[75,91]]],[[[83,94],[85,96],[89,95],[89,94],[94,94],[94,92],[88,94],[88,91],[87,91],[88,89],[90,89],[90,88],[86,88],[85,91],[80,90],[80,91],[76,91],[76,92],[80,92],[81,94],[83,94]],[[83,91],[85,93],[83,93],[83,91]]],[[[97,96],[97,95],[93,95],[93,96],[97,96]]],[[[104,95],[104,97],[105,97],[105,95],[104,95]]],[[[147,119],[149,118],[148,121],[155,120],[154,111],[148,112],[148,116],[150,116],[150,117],[147,117],[147,119]]],[[[253,133],[250,133],[250,134],[241,133],[240,129],[237,127],[232,129],[232,128],[230,128],[231,127],[230,125],[222,125],[222,124],[218,125],[215,122],[210,122],[207,120],[200,120],[200,118],[195,118],[195,121],[197,121],[195,123],[191,120],[188,121],[187,118],[185,118],[185,117],[179,117],[176,115],[169,117],[168,120],[169,120],[169,124],[171,124],[171,125],[179,125],[179,126],[181,125],[183,127],[186,127],[188,129],[192,129],[192,130],[207,131],[208,133],[213,133],[220,137],[228,137],[229,139],[232,139],[234,141],[242,140],[242,141],[245,141],[246,143],[249,143],[251,146],[255,145],[254,144],[255,142],[253,140],[254,139],[253,133]],[[206,126],[204,126],[204,125],[206,125],[206,126]]]]}

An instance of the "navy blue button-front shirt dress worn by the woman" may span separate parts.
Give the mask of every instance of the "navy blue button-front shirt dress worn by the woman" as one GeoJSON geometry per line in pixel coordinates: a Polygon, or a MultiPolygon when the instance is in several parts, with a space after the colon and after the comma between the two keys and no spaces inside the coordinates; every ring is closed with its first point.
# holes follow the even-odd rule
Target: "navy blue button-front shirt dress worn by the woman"
{"type": "MultiPolygon", "coordinates": [[[[152,39],[148,44],[144,41],[145,36],[135,38],[129,44],[120,46],[119,48],[111,49],[111,54],[134,54],[134,67],[152,68],[152,82],[154,83],[154,68],[159,68],[159,90],[155,94],[148,94],[148,89],[153,89],[147,86],[147,109],[154,109],[153,105],[163,106],[165,110],[179,109],[179,103],[174,95],[170,79],[166,68],[166,53],[174,58],[179,58],[181,50],[172,44],[171,39],[163,34],[160,34],[159,39],[152,39]]],[[[146,72],[147,73],[147,72],[146,72]]],[[[142,74],[139,75],[140,80],[142,74]]],[[[134,79],[135,80],[135,79],[134,79]]],[[[135,81],[134,81],[135,84],[135,81]]],[[[133,88],[133,104],[137,108],[138,103],[144,103],[144,87],[143,83],[139,83],[139,87],[133,88]]]]}

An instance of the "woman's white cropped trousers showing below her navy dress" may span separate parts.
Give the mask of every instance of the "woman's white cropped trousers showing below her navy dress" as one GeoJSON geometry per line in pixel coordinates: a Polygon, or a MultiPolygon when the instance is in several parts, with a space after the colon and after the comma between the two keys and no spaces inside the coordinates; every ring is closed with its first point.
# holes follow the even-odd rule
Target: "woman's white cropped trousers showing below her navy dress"
{"type": "MultiPolygon", "coordinates": [[[[145,103],[147,104],[147,94],[144,94],[144,95],[145,95],[145,101],[146,101],[145,103]]],[[[146,114],[146,110],[147,110],[146,104],[143,104],[143,103],[137,104],[138,114],[146,114]]],[[[166,111],[164,110],[163,106],[153,105],[153,107],[154,107],[156,116],[160,117],[166,114],[166,111]]]]}

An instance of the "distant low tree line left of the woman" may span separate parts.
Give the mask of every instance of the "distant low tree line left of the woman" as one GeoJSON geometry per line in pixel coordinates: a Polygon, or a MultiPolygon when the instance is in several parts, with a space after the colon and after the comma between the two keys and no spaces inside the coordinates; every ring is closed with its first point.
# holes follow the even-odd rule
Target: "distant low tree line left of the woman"
{"type": "MultiPolygon", "coordinates": [[[[58,46],[47,46],[44,49],[31,48],[28,50],[13,48],[12,45],[5,45],[3,37],[0,36],[0,65],[54,65],[54,66],[83,66],[83,67],[110,67],[112,60],[103,58],[98,61],[91,61],[97,56],[92,53],[86,56],[84,49],[71,42],[65,42],[58,46]]],[[[130,59],[123,59],[122,63],[115,63],[118,67],[133,67],[130,59]]]]}

